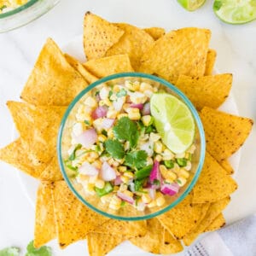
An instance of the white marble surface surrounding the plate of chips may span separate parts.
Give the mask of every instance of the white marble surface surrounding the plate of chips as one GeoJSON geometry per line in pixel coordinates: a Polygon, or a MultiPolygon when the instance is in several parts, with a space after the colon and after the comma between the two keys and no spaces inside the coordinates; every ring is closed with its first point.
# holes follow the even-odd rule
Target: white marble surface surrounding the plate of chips
{"type": "MultiPolygon", "coordinates": [[[[186,12],[174,0],[62,0],[55,9],[28,26],[0,34],[0,147],[8,144],[12,137],[13,122],[5,102],[19,98],[45,39],[52,37],[61,45],[70,41],[82,32],[87,10],[108,20],[137,26],[210,28],[211,46],[218,52],[218,71],[234,74],[232,92],[239,113],[256,120],[256,21],[243,26],[226,25],[213,15],[209,0],[194,13],[186,12]]],[[[241,164],[236,172],[239,189],[225,211],[230,222],[256,212],[255,142],[254,127],[242,149],[241,164]]],[[[34,209],[20,188],[15,172],[13,167],[0,163],[0,248],[15,245],[24,251],[33,236],[34,209]]],[[[128,249],[130,245],[124,247],[128,249]]],[[[63,252],[55,250],[55,255],[86,255],[84,250],[84,242],[79,242],[63,252]]],[[[121,255],[120,251],[116,252],[121,255]]],[[[129,255],[129,250],[127,253],[129,255]]],[[[142,251],[137,251],[137,255],[143,255],[142,251]]]]}

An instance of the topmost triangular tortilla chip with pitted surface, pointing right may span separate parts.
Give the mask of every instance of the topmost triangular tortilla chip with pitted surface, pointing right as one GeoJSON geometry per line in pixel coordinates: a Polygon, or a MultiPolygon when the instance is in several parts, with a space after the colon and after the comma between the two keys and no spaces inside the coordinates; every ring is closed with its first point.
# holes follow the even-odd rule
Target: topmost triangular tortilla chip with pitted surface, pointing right
{"type": "Polygon", "coordinates": [[[119,27],[87,12],[84,15],[84,53],[87,60],[102,58],[123,34],[119,27]]]}

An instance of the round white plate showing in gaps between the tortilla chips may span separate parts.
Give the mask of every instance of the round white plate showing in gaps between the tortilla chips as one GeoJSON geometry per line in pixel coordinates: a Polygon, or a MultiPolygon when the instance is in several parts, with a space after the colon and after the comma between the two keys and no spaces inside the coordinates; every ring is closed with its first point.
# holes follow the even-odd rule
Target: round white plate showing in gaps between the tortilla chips
{"type": "MultiPolygon", "coordinates": [[[[70,41],[68,44],[62,47],[63,52],[68,53],[69,55],[73,55],[79,61],[84,62],[84,49],[82,44],[82,37],[78,36],[70,41]]],[[[238,110],[236,107],[236,102],[234,96],[232,94],[229,96],[226,102],[219,108],[228,113],[238,114],[238,110]]],[[[16,137],[16,132],[14,131],[14,138],[16,137]]],[[[240,150],[236,152],[236,154],[232,155],[230,158],[230,163],[235,170],[238,170],[239,161],[240,161],[240,150]]],[[[24,174],[23,172],[17,171],[17,176],[20,180],[20,185],[22,190],[24,191],[27,199],[31,202],[32,207],[35,207],[36,202],[36,195],[38,189],[38,180],[34,179],[33,177],[29,177],[28,175],[24,174]]],[[[227,223],[230,223],[229,216],[225,216],[227,223]]],[[[88,255],[87,248],[86,248],[86,241],[79,241],[74,243],[73,245],[67,247],[65,250],[60,250],[57,246],[56,241],[51,241],[49,245],[53,248],[55,255],[61,256],[70,256],[70,255],[88,255]]],[[[152,253],[145,253],[141,249],[133,246],[129,241],[123,242],[119,247],[113,249],[111,253],[108,254],[109,256],[148,256],[154,255],[152,253]]],[[[175,255],[183,255],[183,253],[177,253],[175,255]]]]}

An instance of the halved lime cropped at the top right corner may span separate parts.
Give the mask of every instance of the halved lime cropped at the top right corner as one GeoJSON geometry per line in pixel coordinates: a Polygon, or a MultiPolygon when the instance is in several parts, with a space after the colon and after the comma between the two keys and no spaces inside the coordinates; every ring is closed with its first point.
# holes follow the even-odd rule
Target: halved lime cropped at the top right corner
{"type": "Polygon", "coordinates": [[[213,11],[226,23],[247,23],[256,19],[256,0],[215,0],[213,11]]]}

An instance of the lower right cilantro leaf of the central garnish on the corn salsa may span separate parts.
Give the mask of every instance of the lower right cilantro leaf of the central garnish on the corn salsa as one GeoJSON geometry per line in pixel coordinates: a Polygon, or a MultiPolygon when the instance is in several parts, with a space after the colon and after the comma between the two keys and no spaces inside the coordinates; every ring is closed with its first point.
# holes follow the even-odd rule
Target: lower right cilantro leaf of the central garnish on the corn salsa
{"type": "Polygon", "coordinates": [[[138,150],[125,155],[125,165],[131,168],[143,168],[146,166],[148,154],[145,150],[138,150]]]}

